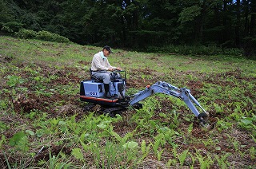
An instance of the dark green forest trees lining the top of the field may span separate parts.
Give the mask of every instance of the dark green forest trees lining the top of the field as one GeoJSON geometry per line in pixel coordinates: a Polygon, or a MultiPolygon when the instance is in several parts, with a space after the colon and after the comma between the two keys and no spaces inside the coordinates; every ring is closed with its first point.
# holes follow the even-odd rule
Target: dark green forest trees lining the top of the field
{"type": "Polygon", "coordinates": [[[0,11],[9,32],[46,30],[81,45],[216,45],[256,53],[256,0],[0,0],[0,11]]]}

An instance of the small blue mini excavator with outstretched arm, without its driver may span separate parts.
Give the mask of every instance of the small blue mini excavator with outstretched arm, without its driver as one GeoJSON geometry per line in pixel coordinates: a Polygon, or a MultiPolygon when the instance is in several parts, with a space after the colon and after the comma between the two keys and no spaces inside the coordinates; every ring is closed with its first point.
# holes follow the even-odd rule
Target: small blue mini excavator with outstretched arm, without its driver
{"type": "Polygon", "coordinates": [[[190,89],[177,88],[164,81],[158,81],[154,85],[148,85],[140,92],[131,96],[126,96],[126,71],[114,71],[111,73],[110,81],[110,98],[104,96],[104,84],[102,81],[93,77],[90,72],[90,80],[81,81],[80,83],[80,100],[99,104],[107,107],[106,112],[127,109],[132,106],[134,108],[142,108],[139,101],[146,99],[154,93],[163,93],[169,96],[177,97],[184,101],[190,108],[202,125],[206,125],[206,119],[209,116],[198,100],[192,96],[190,89]]]}

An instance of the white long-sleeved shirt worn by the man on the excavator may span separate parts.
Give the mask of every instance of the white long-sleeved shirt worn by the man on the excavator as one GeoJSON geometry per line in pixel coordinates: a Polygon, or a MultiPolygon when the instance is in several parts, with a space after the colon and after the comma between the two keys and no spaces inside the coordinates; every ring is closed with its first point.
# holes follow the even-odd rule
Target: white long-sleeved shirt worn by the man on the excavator
{"type": "Polygon", "coordinates": [[[92,71],[108,70],[110,68],[115,69],[114,66],[110,65],[107,57],[103,55],[103,52],[99,52],[94,55],[93,61],[91,62],[92,71]]]}

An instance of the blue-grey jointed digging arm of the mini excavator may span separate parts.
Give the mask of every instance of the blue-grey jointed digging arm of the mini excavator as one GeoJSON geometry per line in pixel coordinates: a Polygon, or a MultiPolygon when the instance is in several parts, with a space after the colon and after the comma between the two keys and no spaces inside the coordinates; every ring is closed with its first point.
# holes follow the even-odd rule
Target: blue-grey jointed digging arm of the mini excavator
{"type": "Polygon", "coordinates": [[[192,94],[190,93],[190,89],[177,88],[164,81],[158,81],[154,85],[147,86],[145,90],[135,93],[133,95],[133,98],[129,101],[129,104],[136,104],[139,101],[144,100],[147,97],[158,92],[174,96],[179,98],[180,100],[183,100],[185,104],[190,108],[190,110],[194,113],[194,115],[198,117],[198,119],[202,122],[202,124],[206,124],[204,117],[209,116],[209,114],[198,103],[198,100],[196,100],[194,96],[192,96],[192,94]],[[196,106],[201,109],[200,112],[198,111],[198,108],[196,108],[196,106]]]}

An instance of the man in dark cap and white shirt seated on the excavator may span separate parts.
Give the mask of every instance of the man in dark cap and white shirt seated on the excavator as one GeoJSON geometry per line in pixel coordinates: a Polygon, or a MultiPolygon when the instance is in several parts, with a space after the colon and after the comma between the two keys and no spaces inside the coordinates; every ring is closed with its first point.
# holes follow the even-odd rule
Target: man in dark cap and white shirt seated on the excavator
{"type": "Polygon", "coordinates": [[[93,61],[91,62],[91,75],[92,77],[103,81],[105,88],[105,97],[110,98],[110,78],[111,73],[114,70],[122,70],[119,67],[111,66],[107,57],[113,53],[110,46],[106,45],[103,47],[102,51],[94,55],[93,61]]]}

